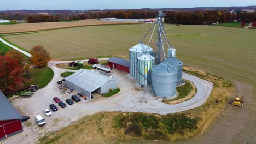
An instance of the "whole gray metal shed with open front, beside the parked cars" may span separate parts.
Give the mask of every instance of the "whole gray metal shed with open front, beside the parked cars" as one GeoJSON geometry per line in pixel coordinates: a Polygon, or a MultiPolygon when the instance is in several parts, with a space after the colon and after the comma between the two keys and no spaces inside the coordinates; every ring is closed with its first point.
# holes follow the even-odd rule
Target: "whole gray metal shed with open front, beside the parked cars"
{"type": "Polygon", "coordinates": [[[91,99],[91,93],[108,93],[109,89],[117,88],[117,80],[91,70],[80,69],[71,76],[65,78],[68,87],[91,99]]]}

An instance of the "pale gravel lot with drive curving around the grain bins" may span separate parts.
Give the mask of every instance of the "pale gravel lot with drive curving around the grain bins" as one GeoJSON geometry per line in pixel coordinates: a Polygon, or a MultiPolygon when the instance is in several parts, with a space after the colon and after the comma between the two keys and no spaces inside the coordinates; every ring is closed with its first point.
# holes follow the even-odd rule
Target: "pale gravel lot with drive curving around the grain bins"
{"type": "Polygon", "coordinates": [[[53,97],[59,97],[62,101],[65,101],[72,95],[62,95],[57,88],[59,86],[57,81],[62,79],[60,74],[65,71],[64,69],[55,67],[57,63],[63,62],[49,62],[49,67],[54,70],[55,75],[48,86],[43,89],[39,89],[30,98],[20,98],[13,101],[13,105],[22,113],[22,115],[29,115],[31,117],[28,122],[30,122],[32,125],[27,126],[23,124],[23,133],[10,137],[10,139],[1,142],[34,143],[37,141],[39,136],[42,136],[45,133],[61,129],[76,121],[80,117],[101,111],[139,111],[167,114],[193,109],[205,103],[213,88],[211,82],[199,79],[195,76],[183,74],[184,79],[190,80],[196,85],[197,93],[195,97],[185,101],[184,103],[167,105],[155,99],[149,92],[149,87],[144,87],[143,89],[138,90],[135,87],[136,81],[132,79],[129,74],[119,70],[113,70],[113,78],[118,80],[118,87],[121,89],[117,95],[110,98],[98,97],[95,100],[88,102],[82,100],[79,103],[74,103],[74,105],[67,104],[67,107],[64,109],[57,105],[59,110],[53,112],[53,116],[46,117],[46,115],[43,113],[43,109],[49,109],[49,105],[51,103],[55,103],[53,101],[53,97]],[[44,127],[38,127],[34,121],[34,116],[38,114],[45,118],[46,125],[44,127]]]}

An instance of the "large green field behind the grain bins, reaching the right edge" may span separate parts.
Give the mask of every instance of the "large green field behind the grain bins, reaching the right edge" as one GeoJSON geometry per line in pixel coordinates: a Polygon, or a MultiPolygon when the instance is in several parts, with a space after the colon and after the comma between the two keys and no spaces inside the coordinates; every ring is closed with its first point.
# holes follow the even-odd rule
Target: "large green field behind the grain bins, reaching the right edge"
{"type": "MultiPolygon", "coordinates": [[[[54,59],[87,59],[99,55],[129,56],[130,47],[138,44],[151,26],[77,27],[4,38],[26,50],[42,45],[54,59]]],[[[185,65],[255,84],[254,29],[188,25],[165,25],[165,29],[167,37],[177,49],[177,57],[185,65]]],[[[155,44],[151,46],[155,48],[155,44]]]]}

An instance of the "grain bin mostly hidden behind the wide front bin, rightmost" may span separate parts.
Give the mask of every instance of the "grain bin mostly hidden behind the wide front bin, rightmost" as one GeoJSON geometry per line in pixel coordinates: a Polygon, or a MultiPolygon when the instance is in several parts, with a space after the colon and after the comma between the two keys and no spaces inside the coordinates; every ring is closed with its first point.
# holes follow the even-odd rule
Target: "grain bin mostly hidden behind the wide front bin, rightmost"
{"type": "Polygon", "coordinates": [[[166,62],[171,64],[173,67],[177,68],[177,86],[180,85],[182,81],[182,67],[183,67],[183,62],[179,61],[179,59],[175,57],[168,57],[166,59],[166,62]]]}

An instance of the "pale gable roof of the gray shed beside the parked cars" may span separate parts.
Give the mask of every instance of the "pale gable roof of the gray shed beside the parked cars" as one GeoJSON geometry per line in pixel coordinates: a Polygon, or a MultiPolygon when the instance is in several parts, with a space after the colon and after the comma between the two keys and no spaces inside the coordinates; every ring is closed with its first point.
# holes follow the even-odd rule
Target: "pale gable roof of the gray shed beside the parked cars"
{"type": "Polygon", "coordinates": [[[66,80],[90,93],[102,87],[108,81],[116,81],[107,76],[86,69],[78,70],[73,75],[66,77],[65,81],[66,80]]]}

